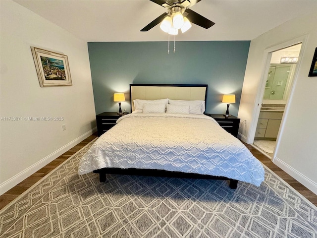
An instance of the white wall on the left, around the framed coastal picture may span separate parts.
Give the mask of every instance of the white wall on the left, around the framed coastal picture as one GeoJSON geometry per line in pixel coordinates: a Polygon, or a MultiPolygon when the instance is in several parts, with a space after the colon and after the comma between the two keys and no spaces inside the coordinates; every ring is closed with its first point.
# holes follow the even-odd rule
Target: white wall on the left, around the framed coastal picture
{"type": "Polygon", "coordinates": [[[0,3],[2,194],[88,137],[96,125],[87,43],[11,0],[0,3]],[[67,55],[73,85],[41,88],[31,46],[67,55]]]}

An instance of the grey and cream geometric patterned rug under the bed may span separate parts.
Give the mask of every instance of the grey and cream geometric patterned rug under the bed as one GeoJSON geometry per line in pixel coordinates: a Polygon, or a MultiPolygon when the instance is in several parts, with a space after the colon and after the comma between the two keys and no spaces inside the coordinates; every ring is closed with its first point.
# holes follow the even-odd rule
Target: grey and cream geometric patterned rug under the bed
{"type": "MultiPolygon", "coordinates": [[[[94,141],[93,141],[94,142],[94,141]]],[[[91,142],[0,211],[0,238],[317,238],[317,207],[265,168],[260,187],[79,176],[91,142]]]]}

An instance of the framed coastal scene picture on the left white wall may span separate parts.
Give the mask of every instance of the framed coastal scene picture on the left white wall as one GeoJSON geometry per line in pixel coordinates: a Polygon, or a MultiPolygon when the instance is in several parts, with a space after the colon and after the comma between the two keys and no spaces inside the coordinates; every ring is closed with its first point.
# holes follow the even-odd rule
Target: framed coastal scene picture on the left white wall
{"type": "Polygon", "coordinates": [[[41,87],[72,85],[67,56],[36,47],[31,50],[41,87]]]}

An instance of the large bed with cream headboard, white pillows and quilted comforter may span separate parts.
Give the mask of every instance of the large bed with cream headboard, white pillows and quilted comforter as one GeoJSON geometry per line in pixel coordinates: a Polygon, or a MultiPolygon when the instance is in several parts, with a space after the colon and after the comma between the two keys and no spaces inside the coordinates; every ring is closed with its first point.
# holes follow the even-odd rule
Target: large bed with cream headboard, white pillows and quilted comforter
{"type": "Polygon", "coordinates": [[[264,168],[251,152],[203,114],[207,85],[130,85],[131,114],[101,135],[79,163],[99,173],[238,180],[259,186],[264,168]],[[167,101],[166,101],[167,100],[167,101]]]}

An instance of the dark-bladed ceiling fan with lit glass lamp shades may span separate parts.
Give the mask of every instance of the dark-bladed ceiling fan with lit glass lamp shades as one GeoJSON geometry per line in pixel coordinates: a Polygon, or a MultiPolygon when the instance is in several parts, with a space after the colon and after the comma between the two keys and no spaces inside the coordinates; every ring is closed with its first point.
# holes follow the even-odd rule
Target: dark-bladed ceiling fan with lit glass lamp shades
{"type": "Polygon", "coordinates": [[[195,5],[197,2],[201,0],[150,0],[153,1],[163,7],[167,8],[167,13],[161,14],[158,18],[149,23],[146,27],[144,27],[141,31],[148,31],[161,23],[160,28],[166,33],[177,35],[176,31],[181,29],[184,26],[184,33],[191,27],[190,23],[194,23],[198,26],[204,27],[205,29],[210,28],[215,23],[206,17],[196,13],[195,11],[189,9],[189,7],[195,5]],[[177,18],[177,19],[176,19],[177,18]],[[166,22],[167,21],[167,22],[166,22]],[[180,21],[180,23],[178,23],[180,21]],[[187,22],[189,21],[189,23],[187,22]],[[179,25],[179,27],[175,25],[179,25]],[[190,24],[185,27],[185,24],[190,24]],[[167,26],[166,26],[167,24],[167,26]],[[174,32],[170,31],[170,28],[174,29],[174,32]],[[186,29],[185,29],[186,28],[186,29]],[[187,29],[188,28],[188,29],[187,29]]]}

